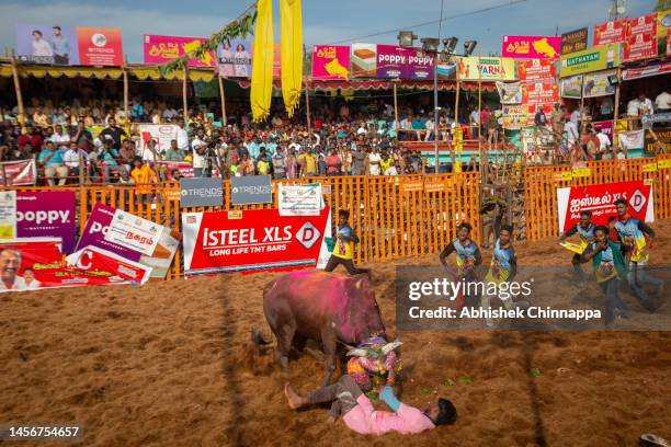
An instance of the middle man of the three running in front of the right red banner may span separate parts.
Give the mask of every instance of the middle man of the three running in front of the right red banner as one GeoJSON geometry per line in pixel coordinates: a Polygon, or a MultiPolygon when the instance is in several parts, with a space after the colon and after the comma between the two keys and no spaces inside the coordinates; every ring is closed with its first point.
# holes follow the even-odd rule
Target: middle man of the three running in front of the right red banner
{"type": "Polygon", "coordinates": [[[619,279],[626,279],[627,268],[621,248],[609,240],[609,227],[594,228],[594,242],[591,242],[582,253],[582,261],[592,261],[596,284],[605,294],[605,325],[612,329],[615,323],[615,309],[623,318],[629,318],[629,307],[619,298],[619,279]]]}

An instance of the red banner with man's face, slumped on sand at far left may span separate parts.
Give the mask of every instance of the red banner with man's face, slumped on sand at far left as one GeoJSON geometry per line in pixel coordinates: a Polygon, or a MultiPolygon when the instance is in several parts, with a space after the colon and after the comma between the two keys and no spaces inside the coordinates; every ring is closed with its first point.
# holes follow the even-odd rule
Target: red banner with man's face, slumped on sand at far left
{"type": "Polygon", "coordinates": [[[64,264],[57,239],[18,239],[2,243],[1,263],[13,263],[15,270],[3,275],[0,293],[59,287],[144,284],[149,271],[112,253],[87,249],[64,264]]]}

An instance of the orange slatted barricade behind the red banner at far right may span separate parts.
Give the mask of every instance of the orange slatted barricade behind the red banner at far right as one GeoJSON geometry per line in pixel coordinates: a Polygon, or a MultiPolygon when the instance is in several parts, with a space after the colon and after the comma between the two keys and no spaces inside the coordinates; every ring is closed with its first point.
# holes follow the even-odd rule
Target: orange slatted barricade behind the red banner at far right
{"type": "Polygon", "coordinates": [[[657,158],[630,160],[602,160],[588,162],[589,175],[571,177],[570,165],[526,167],[524,170],[524,206],[526,217],[526,238],[532,241],[559,236],[557,210],[557,188],[587,186],[600,183],[647,180],[652,183],[655,217],[671,217],[671,169],[658,168],[659,161],[668,160],[671,154],[657,158]],[[562,179],[562,174],[566,175],[562,179]]]}

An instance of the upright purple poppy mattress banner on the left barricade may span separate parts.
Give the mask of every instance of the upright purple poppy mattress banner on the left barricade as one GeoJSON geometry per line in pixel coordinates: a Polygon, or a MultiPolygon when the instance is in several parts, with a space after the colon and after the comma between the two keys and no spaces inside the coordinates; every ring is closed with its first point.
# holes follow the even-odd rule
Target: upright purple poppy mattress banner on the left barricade
{"type": "Polygon", "coordinates": [[[75,191],[20,191],[16,193],[19,238],[60,238],[62,252],[75,250],[77,238],[75,191]]]}

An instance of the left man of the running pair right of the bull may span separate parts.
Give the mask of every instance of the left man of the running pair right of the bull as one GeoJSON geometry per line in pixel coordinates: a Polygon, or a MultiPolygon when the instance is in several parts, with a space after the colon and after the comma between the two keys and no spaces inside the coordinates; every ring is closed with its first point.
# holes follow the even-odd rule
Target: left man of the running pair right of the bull
{"type": "Polygon", "coordinates": [[[468,284],[476,280],[475,267],[482,264],[482,255],[478,245],[470,239],[471,229],[470,224],[459,224],[457,227],[457,238],[450,242],[441,252],[441,264],[453,274],[454,280],[464,279],[464,284],[467,286],[466,294],[459,293],[456,299],[457,309],[462,309],[464,306],[464,297],[468,306],[476,306],[477,302],[477,297],[471,297],[468,293],[470,289],[468,284]],[[456,253],[456,272],[450,267],[446,261],[447,256],[453,252],[456,253]]]}

